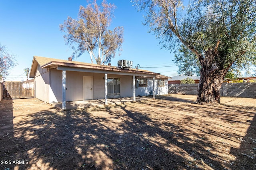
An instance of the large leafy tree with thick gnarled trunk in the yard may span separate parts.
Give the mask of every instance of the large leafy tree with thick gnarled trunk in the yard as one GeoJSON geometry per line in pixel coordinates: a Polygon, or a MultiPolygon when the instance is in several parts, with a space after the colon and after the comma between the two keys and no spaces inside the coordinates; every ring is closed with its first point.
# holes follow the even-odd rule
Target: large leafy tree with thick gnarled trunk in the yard
{"type": "Polygon", "coordinates": [[[133,2],[163,47],[177,52],[183,45],[196,56],[200,64],[197,103],[219,103],[228,69],[256,63],[255,0],[191,0],[188,6],[182,0],[133,2]]]}

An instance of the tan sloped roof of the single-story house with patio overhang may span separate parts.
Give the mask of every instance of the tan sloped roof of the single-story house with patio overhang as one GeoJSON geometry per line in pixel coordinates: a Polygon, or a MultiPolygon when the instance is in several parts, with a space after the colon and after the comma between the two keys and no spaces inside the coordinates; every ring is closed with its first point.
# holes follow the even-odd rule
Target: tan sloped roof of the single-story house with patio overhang
{"type": "Polygon", "coordinates": [[[130,73],[152,74],[152,75],[160,74],[160,73],[155,73],[148,70],[141,70],[141,69],[135,69],[135,68],[120,69],[116,66],[106,66],[106,65],[99,65],[99,64],[83,63],[78,61],[68,61],[68,60],[62,60],[62,59],[52,59],[52,58],[34,56],[29,77],[33,78],[35,76],[38,64],[41,68],[58,68],[58,66],[69,66],[69,67],[76,67],[76,68],[97,69],[97,70],[116,71],[116,72],[130,72],[130,73]]]}

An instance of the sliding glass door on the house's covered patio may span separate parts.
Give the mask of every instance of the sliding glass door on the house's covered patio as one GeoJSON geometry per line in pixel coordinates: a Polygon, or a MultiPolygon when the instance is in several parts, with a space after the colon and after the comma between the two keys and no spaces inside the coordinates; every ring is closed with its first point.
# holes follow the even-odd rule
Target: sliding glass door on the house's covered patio
{"type": "Polygon", "coordinates": [[[120,78],[108,78],[108,97],[120,96],[120,78]]]}

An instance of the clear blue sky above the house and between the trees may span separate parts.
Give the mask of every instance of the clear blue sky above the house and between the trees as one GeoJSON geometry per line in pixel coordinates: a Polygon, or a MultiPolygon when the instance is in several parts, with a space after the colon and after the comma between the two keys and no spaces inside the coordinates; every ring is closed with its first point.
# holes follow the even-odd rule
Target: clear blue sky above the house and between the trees
{"type": "MultiPolygon", "coordinates": [[[[178,75],[178,66],[173,66],[172,62],[174,55],[161,49],[155,35],[148,33],[148,27],[142,25],[142,14],[130,0],[107,2],[117,7],[111,27],[124,27],[123,51],[121,56],[112,59],[112,65],[126,59],[133,61],[133,66],[140,64],[141,69],[166,76],[178,75]]],[[[16,55],[18,63],[10,70],[6,81],[26,80],[24,68],[31,67],[34,55],[56,59],[68,59],[72,55],[59,25],[68,16],[77,18],[80,5],[86,6],[86,0],[0,0],[0,44],[16,55]]],[[[84,53],[76,61],[90,63],[89,54],[84,53]]]]}

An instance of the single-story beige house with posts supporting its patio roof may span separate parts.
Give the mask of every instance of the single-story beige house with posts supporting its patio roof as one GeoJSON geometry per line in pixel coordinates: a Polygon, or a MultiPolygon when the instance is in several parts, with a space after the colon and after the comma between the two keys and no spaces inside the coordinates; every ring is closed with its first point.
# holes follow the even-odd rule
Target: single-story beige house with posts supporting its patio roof
{"type": "Polygon", "coordinates": [[[34,56],[30,78],[35,98],[66,102],[168,94],[168,77],[148,70],[34,56]]]}

